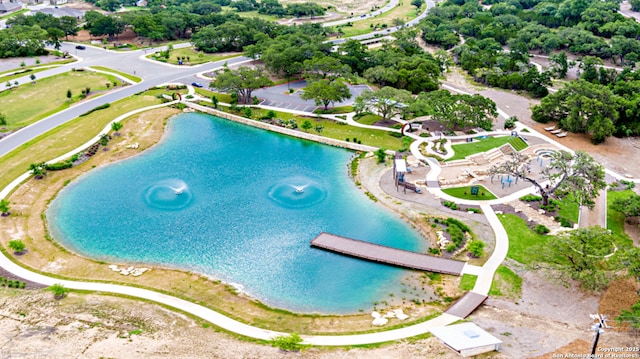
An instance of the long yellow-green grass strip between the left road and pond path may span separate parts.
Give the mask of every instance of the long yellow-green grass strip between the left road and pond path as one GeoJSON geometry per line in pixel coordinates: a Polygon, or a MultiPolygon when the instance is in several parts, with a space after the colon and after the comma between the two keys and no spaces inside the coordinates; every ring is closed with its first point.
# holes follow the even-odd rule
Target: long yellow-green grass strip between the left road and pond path
{"type": "Polygon", "coordinates": [[[111,107],[78,117],[23,144],[0,158],[0,188],[25,173],[29,165],[61,156],[97,135],[114,118],[129,111],[157,105],[161,101],[146,94],[114,102],[111,107]]]}

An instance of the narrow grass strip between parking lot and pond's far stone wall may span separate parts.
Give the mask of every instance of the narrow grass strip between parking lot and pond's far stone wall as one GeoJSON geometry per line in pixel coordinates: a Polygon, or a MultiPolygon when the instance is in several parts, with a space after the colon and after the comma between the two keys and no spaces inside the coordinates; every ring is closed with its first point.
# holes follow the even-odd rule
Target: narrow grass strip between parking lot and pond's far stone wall
{"type": "MultiPolygon", "coordinates": [[[[212,107],[211,101],[201,102],[200,105],[212,107]]],[[[218,106],[218,109],[221,111],[229,112],[229,109],[226,106],[218,106]]],[[[254,119],[258,119],[267,114],[267,110],[258,108],[252,108],[251,111],[253,112],[252,117],[254,119]]],[[[363,145],[382,147],[391,150],[396,150],[402,147],[401,140],[399,138],[390,136],[389,132],[387,131],[353,127],[344,123],[338,123],[336,121],[325,120],[322,118],[303,118],[294,116],[293,114],[288,112],[275,112],[276,118],[281,118],[283,120],[295,119],[299,129],[302,127],[302,123],[304,121],[310,121],[312,128],[309,130],[309,133],[314,133],[320,136],[334,138],[342,141],[345,141],[347,138],[350,141],[353,141],[353,138],[355,137],[360,140],[363,145]],[[321,133],[316,133],[314,130],[314,128],[318,125],[324,127],[321,133]]],[[[236,113],[236,115],[242,115],[242,113],[236,113]]]]}

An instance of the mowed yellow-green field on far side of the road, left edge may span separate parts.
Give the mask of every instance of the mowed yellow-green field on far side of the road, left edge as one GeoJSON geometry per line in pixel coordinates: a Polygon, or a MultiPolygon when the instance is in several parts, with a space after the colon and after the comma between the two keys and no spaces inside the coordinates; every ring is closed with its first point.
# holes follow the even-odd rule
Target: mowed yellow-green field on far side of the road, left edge
{"type": "Polygon", "coordinates": [[[7,118],[7,127],[27,126],[68,108],[71,102],[67,90],[71,90],[73,100],[77,100],[82,89],[89,87],[92,93],[104,91],[106,84],[112,87],[114,81],[120,83],[113,76],[87,71],[67,72],[44,79],[36,77],[35,83],[1,92],[1,111],[7,118]]]}

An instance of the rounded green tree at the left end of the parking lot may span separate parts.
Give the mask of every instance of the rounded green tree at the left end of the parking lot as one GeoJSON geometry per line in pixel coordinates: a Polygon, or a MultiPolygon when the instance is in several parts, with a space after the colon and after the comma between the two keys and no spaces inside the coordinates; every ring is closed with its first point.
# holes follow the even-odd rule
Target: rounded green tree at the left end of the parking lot
{"type": "Polygon", "coordinates": [[[253,101],[251,94],[254,90],[270,85],[273,81],[261,68],[240,66],[236,70],[225,68],[218,72],[209,87],[235,93],[238,102],[248,104],[253,101]]]}

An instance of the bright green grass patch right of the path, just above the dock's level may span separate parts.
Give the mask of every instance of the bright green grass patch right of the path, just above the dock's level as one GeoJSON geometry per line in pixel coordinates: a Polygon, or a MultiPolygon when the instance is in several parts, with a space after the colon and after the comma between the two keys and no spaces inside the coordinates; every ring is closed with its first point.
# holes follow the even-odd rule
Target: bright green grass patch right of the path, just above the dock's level
{"type": "Polygon", "coordinates": [[[536,246],[545,245],[551,236],[537,234],[525,221],[515,214],[499,214],[498,218],[509,236],[509,252],[507,257],[517,260],[522,264],[532,263],[536,246]]]}

